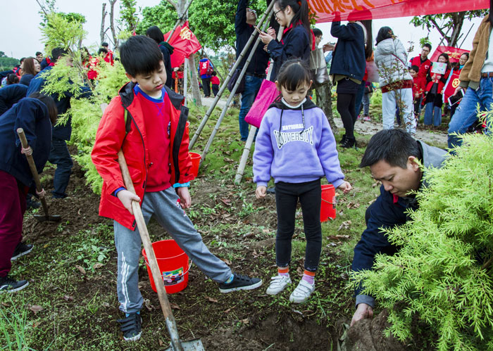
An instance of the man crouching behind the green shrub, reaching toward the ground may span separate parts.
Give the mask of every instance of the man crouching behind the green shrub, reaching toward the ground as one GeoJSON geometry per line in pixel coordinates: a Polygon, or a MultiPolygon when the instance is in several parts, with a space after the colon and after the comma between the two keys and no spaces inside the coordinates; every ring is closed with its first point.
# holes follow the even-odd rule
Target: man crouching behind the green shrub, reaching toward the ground
{"type": "MultiPolygon", "coordinates": [[[[425,170],[441,167],[447,152],[417,141],[401,129],[382,130],[372,136],[360,167],[370,167],[373,178],[382,182],[380,196],[366,210],[366,229],[354,248],[352,269],[372,269],[375,255],[394,255],[399,248],[387,240],[381,229],[389,229],[406,223],[408,209],[416,210],[418,203],[410,191],[426,186],[425,170]]],[[[351,326],[360,319],[373,317],[375,299],[362,293],[363,286],[356,288],[356,312],[351,326]]]]}

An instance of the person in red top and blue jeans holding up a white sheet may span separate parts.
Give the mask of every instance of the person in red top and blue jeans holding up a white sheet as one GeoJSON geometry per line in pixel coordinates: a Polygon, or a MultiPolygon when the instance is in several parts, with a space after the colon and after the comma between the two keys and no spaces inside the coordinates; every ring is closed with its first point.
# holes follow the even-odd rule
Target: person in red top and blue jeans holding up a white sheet
{"type": "Polygon", "coordinates": [[[447,69],[443,75],[432,72],[433,65],[428,70],[426,76],[427,84],[425,88],[425,125],[438,127],[442,124],[442,104],[445,83],[450,75],[450,61],[447,53],[440,53],[439,63],[447,63],[447,69]]]}

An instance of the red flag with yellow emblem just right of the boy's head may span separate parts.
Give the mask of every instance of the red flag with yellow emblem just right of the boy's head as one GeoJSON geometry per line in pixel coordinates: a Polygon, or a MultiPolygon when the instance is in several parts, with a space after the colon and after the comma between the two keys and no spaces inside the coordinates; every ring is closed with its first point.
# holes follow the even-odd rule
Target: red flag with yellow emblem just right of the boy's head
{"type": "MultiPolygon", "coordinates": [[[[170,31],[171,32],[171,31],[170,31]]],[[[164,34],[164,39],[168,39],[170,32],[164,34]]],[[[188,21],[181,27],[177,27],[168,43],[175,48],[171,55],[171,67],[180,67],[185,62],[185,58],[196,53],[201,49],[199,40],[188,27],[188,21]]]]}

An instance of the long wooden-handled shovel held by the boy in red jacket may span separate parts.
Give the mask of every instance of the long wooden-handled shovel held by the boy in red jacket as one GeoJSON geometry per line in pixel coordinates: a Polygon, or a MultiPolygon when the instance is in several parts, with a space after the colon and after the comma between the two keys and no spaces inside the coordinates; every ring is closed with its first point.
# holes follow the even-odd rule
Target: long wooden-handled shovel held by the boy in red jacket
{"type": "MultiPolygon", "coordinates": [[[[122,171],[125,188],[127,188],[128,191],[135,193],[134,184],[132,183],[130,172],[128,172],[127,162],[125,161],[125,155],[123,155],[123,151],[121,150],[118,151],[118,163],[120,164],[120,170],[122,171]]],[[[147,259],[149,260],[149,267],[151,267],[154,283],[156,284],[159,303],[161,305],[161,309],[163,309],[164,319],[166,321],[166,328],[168,328],[168,333],[170,333],[171,345],[168,350],[204,350],[204,346],[202,345],[200,339],[193,339],[188,341],[180,340],[175,317],[173,317],[170,302],[168,301],[168,295],[166,295],[166,289],[164,288],[164,281],[162,279],[161,272],[159,271],[158,261],[156,260],[156,255],[154,255],[154,249],[152,248],[151,238],[149,238],[149,232],[147,231],[146,222],[144,221],[142,210],[140,209],[140,205],[137,201],[132,200],[132,210],[135,215],[135,221],[137,222],[137,228],[139,229],[142,244],[144,245],[144,249],[147,253],[147,259]]]]}

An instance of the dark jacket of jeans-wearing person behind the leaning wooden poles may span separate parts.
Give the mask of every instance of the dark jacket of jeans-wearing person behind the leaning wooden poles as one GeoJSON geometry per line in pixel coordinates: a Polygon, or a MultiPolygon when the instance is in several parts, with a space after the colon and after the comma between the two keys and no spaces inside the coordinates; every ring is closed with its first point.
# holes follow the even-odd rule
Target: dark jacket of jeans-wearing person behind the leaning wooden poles
{"type": "MultiPolygon", "coordinates": [[[[253,25],[249,25],[246,23],[246,6],[247,0],[239,0],[238,6],[236,8],[235,15],[235,32],[236,32],[236,58],[239,57],[239,54],[242,53],[246,43],[251,37],[251,33],[255,31],[253,25]]],[[[258,34],[256,35],[256,40],[258,38],[258,34]]],[[[238,69],[241,70],[245,65],[246,58],[251,53],[251,48],[255,42],[251,43],[250,48],[246,51],[245,56],[243,56],[243,60],[239,63],[238,69]]],[[[269,56],[266,51],[263,49],[263,43],[258,43],[257,49],[255,50],[254,56],[251,58],[251,61],[246,68],[246,73],[250,75],[265,75],[267,63],[269,60],[269,56]]]]}

